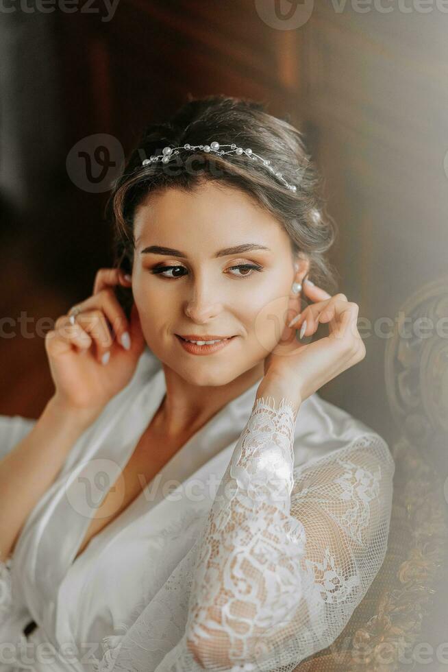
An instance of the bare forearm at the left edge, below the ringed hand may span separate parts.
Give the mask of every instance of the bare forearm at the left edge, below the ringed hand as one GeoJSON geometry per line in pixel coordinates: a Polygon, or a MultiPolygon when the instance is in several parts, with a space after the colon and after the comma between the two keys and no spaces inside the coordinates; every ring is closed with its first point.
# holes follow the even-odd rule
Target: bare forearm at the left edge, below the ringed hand
{"type": "Polygon", "coordinates": [[[12,552],[27,517],[58,475],[71,448],[92,424],[49,400],[33,429],[0,461],[0,560],[12,552]]]}

